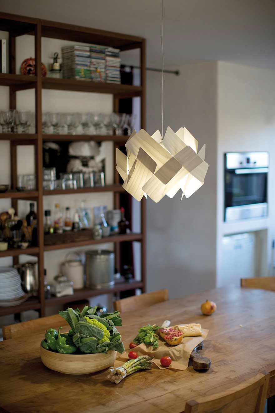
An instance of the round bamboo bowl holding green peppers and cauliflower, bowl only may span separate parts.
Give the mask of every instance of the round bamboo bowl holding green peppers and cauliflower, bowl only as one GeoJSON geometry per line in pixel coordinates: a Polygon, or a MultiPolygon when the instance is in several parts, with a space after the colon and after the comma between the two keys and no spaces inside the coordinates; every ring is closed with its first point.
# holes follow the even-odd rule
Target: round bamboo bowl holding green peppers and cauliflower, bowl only
{"type": "Polygon", "coordinates": [[[64,374],[88,374],[114,365],[117,352],[96,354],[60,354],[40,345],[42,363],[51,370],[64,374]]]}

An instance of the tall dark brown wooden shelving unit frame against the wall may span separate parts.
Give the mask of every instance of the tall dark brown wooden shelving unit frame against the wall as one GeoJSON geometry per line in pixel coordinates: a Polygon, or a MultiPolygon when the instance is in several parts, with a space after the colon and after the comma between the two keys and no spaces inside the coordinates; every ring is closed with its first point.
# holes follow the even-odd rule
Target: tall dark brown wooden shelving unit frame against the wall
{"type": "MultiPolygon", "coordinates": [[[[78,242],[68,242],[56,245],[45,245],[44,243],[44,207],[43,197],[49,195],[75,194],[79,196],[81,193],[100,193],[112,192],[114,200],[114,208],[120,208],[120,197],[126,194],[120,183],[118,173],[114,168],[114,182],[112,185],[98,188],[82,188],[77,190],[43,190],[42,178],[42,145],[43,142],[59,141],[72,142],[78,140],[94,140],[96,142],[113,142],[115,159],[115,150],[120,145],[124,145],[127,137],[125,136],[109,136],[109,135],[45,135],[42,134],[42,90],[69,90],[80,91],[86,93],[107,93],[113,95],[113,110],[118,112],[120,99],[129,99],[132,97],[140,97],[141,101],[141,127],[145,128],[145,40],[136,36],[129,36],[120,33],[97,30],[93,28],[74,26],[70,24],[57,23],[54,21],[46,21],[34,19],[13,14],[0,13],[0,27],[2,31],[9,32],[9,73],[0,74],[0,85],[9,87],[9,108],[16,109],[16,92],[26,89],[35,90],[35,124],[36,130],[34,134],[15,134],[5,133],[0,134],[0,140],[10,142],[10,158],[11,158],[11,186],[10,190],[5,193],[0,193],[0,199],[11,199],[12,207],[17,209],[17,202],[20,199],[35,200],[37,202],[37,218],[38,218],[38,247],[28,247],[27,249],[8,249],[6,252],[0,252],[0,258],[12,256],[14,263],[18,262],[20,254],[33,255],[38,258],[38,280],[39,291],[38,298],[30,297],[24,303],[13,307],[0,307],[0,316],[20,313],[21,311],[37,310],[40,316],[45,316],[47,307],[66,304],[68,302],[77,301],[80,299],[89,299],[101,294],[119,294],[128,290],[140,288],[143,292],[146,289],[146,264],[145,264],[145,203],[141,202],[141,233],[127,233],[123,235],[112,235],[101,240],[83,240],[78,242]],[[16,74],[16,42],[17,36],[23,34],[32,35],[35,38],[35,61],[36,74],[35,76],[23,76],[16,74]],[[41,40],[43,37],[71,40],[87,44],[99,44],[119,48],[120,50],[139,49],[140,66],[141,66],[141,85],[124,85],[112,83],[98,83],[92,81],[82,81],[75,79],[55,79],[41,76],[41,40]],[[16,149],[18,145],[34,145],[35,148],[35,173],[37,188],[34,191],[17,192],[16,179],[16,149]],[[141,243],[141,281],[132,280],[132,282],[117,281],[114,286],[101,290],[91,290],[84,288],[75,290],[73,296],[52,297],[45,299],[44,295],[44,253],[56,249],[75,248],[86,245],[103,244],[106,242],[114,243],[116,256],[120,254],[120,245],[122,243],[141,243]]],[[[77,112],[77,109],[76,109],[77,112]]],[[[126,196],[130,197],[128,194],[126,196]]],[[[132,217],[134,219],[134,217],[132,217]]]]}

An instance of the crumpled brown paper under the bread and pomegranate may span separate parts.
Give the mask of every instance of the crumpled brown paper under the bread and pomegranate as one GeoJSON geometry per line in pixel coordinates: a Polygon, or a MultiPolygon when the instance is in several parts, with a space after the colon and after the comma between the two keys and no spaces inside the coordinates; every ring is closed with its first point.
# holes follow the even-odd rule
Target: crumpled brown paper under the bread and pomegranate
{"type": "Polygon", "coordinates": [[[200,344],[208,334],[209,330],[202,328],[202,335],[197,337],[183,337],[181,344],[177,346],[169,346],[164,340],[158,340],[157,349],[153,349],[152,346],[146,346],[146,344],[141,343],[136,346],[134,349],[124,351],[121,355],[117,357],[117,360],[123,361],[125,363],[129,360],[128,353],[129,351],[135,351],[139,356],[150,356],[153,357],[153,363],[158,368],[167,368],[163,367],[160,364],[160,359],[163,356],[170,356],[172,363],[169,366],[172,370],[185,370],[188,367],[190,354],[192,351],[200,344]]]}

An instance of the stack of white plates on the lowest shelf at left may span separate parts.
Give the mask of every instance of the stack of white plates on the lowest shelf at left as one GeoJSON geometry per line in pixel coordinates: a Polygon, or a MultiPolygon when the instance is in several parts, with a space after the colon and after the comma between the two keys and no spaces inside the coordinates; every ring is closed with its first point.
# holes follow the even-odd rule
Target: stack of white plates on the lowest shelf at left
{"type": "Polygon", "coordinates": [[[15,268],[0,267],[0,307],[16,306],[26,301],[28,294],[21,288],[21,278],[15,268]]]}

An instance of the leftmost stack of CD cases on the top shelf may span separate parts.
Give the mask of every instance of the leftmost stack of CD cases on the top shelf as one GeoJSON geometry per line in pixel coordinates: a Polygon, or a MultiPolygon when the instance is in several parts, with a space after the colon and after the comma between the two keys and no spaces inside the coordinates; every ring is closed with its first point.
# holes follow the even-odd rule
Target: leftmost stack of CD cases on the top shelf
{"type": "Polygon", "coordinates": [[[91,80],[89,46],[64,46],[61,51],[63,78],[91,80]]]}

